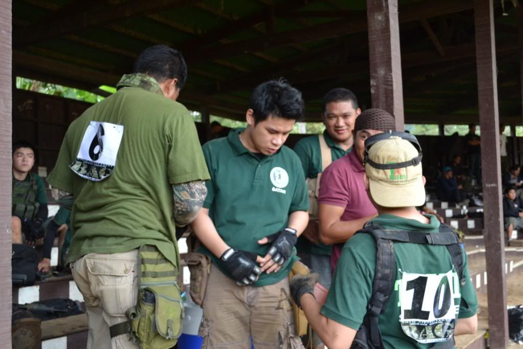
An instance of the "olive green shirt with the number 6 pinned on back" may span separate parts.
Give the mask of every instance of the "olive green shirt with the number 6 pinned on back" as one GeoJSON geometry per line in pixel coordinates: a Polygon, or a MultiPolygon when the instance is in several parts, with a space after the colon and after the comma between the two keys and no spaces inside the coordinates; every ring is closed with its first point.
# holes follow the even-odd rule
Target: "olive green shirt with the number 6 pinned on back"
{"type": "MultiPolygon", "coordinates": [[[[195,123],[152,77],[124,75],[118,87],[71,123],[48,177],[53,187],[74,196],[67,262],[147,244],[178,266],[172,184],[209,179],[195,123]],[[72,170],[92,121],[123,127],[114,171],[99,182],[72,170]]],[[[104,151],[110,141],[104,139],[104,151]]]]}

